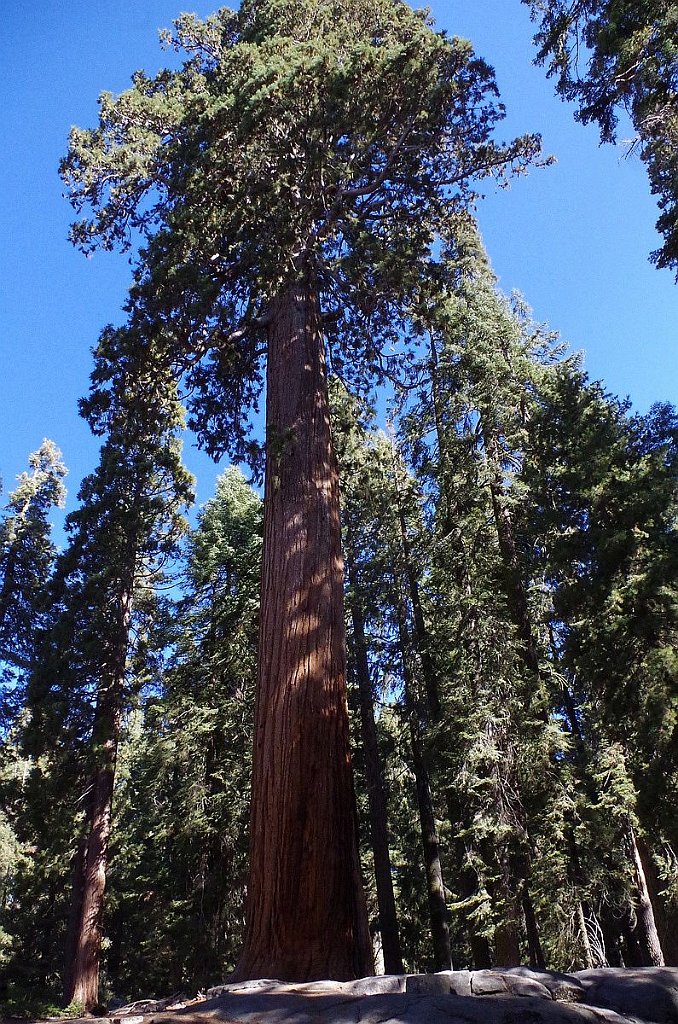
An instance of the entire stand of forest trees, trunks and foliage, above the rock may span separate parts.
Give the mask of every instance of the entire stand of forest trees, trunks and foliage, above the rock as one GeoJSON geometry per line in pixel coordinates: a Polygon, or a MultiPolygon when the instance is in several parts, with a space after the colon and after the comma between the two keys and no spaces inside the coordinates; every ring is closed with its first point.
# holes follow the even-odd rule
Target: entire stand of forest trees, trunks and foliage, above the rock
{"type": "MultiPolygon", "coordinates": [[[[611,138],[626,92],[591,105],[563,54],[586,23],[593,89],[635,6],[533,6],[611,138]]],[[[670,13],[632,34],[645,127],[670,13]]],[[[61,163],[72,241],[132,252],[98,465],[62,551],[51,441],[0,524],[8,1006],[678,965],[678,419],[498,288],[474,205],[539,136],[502,141],[493,70],[401,0],[166,42],[61,163]],[[232,466],[189,524],[186,415],[263,500],[232,466]]]]}

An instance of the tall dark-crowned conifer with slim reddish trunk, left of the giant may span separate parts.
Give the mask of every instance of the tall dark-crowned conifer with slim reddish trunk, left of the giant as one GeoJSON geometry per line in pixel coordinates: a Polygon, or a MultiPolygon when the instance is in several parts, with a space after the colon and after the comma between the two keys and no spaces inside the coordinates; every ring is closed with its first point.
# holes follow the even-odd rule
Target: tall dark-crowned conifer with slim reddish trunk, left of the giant
{"type": "Polygon", "coordinates": [[[72,782],[83,787],[84,811],[74,820],[80,819],[63,987],[66,1004],[86,1010],[98,998],[116,764],[134,689],[130,659],[143,645],[154,583],[172,557],[181,508],[190,499],[175,387],[144,367],[139,351],[139,338],[127,329],[107,329],[99,340],[82,411],[105,439],[97,469],[80,488],[81,506],[67,518],[70,543],[54,573],[49,628],[27,691],[25,742],[36,770],[41,755],[60,745],[70,745],[80,763],[72,782]]]}

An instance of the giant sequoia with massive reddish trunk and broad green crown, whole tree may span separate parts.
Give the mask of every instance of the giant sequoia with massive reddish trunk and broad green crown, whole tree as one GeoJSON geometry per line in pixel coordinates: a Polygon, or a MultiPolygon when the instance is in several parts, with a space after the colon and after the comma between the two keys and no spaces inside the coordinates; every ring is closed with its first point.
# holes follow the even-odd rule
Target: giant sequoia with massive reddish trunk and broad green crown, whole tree
{"type": "Polygon", "coordinates": [[[177,72],[103,94],[62,173],[83,249],[142,241],[129,310],[193,395],[212,451],[266,482],[249,916],[238,976],[371,970],[344,682],[326,344],[378,376],[422,262],[474,180],[519,170],[493,142],[492,70],[401,0],[244,0],[169,41],[177,72]],[[327,313],[332,316],[328,318],[327,313]]]}

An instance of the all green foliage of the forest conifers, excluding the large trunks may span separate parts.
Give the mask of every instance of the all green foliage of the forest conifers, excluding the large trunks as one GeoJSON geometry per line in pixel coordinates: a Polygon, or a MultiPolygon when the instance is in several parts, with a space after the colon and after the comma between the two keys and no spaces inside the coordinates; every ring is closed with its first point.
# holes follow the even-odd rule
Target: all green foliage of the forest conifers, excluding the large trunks
{"type": "MultiPolygon", "coordinates": [[[[629,106],[670,217],[673,7],[532,2],[582,120],[611,139],[629,106]]],[[[617,942],[636,898],[632,829],[669,909],[675,895],[675,414],[632,416],[498,292],[466,210],[539,143],[494,141],[494,76],[467,43],[399,0],[245,0],[181,15],[165,43],[182,67],[103,94],[61,168],[77,245],[140,246],[127,324],[102,332],[82,402],[99,466],[54,572],[53,449],[0,527],[0,653],[31,668],[0,775],[7,1005],[55,990],[116,658],[107,990],[193,989],[236,963],[261,504],[228,470],[181,547],[180,393],[211,451],[258,465],[268,308],[302,265],[331,314],[347,596],[365,617],[407,967],[434,963],[422,777],[456,965],[495,962],[511,931],[536,957],[533,911],[548,966],[583,964],[581,916],[617,942]],[[355,395],[408,374],[387,436],[355,395]]],[[[676,258],[669,227],[660,264],[676,258]]]]}

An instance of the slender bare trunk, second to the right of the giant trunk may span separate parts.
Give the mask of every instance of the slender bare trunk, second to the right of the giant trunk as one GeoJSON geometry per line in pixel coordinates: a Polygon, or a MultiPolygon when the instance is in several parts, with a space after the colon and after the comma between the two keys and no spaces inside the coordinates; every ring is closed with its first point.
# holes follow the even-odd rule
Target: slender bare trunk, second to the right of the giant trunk
{"type": "Polygon", "coordinates": [[[405,680],[405,709],[410,727],[410,742],[412,748],[412,768],[417,791],[417,806],[421,827],[421,843],[424,854],[424,868],[428,893],[428,913],[431,925],[433,943],[433,963],[436,971],[449,971],[452,967],[452,950],[450,946],[450,925],[448,921],[448,903],[442,881],[438,835],[435,825],[435,813],[428,770],[422,749],[421,726],[413,694],[412,670],[409,658],[409,637],[405,617],[405,607],[401,599],[396,608],[400,651],[402,657],[402,676],[405,680]]]}

